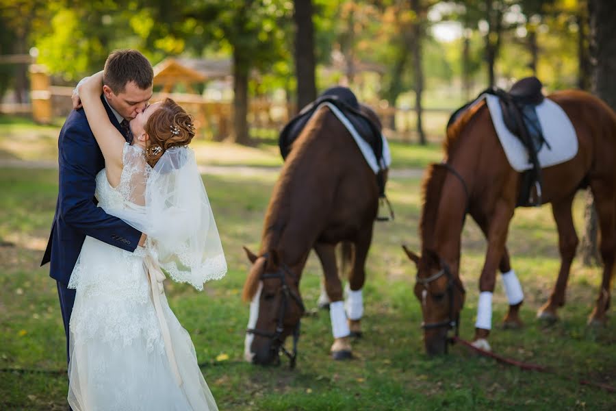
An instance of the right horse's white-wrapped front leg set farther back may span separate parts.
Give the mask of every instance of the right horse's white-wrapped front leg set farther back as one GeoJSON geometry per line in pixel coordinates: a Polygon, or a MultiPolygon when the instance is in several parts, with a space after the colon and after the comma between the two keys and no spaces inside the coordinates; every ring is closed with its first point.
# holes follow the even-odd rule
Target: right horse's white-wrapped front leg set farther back
{"type": "MultiPolygon", "coordinates": [[[[473,216],[473,219],[479,225],[485,238],[488,238],[488,225],[487,219],[480,216],[473,216]]],[[[522,319],[519,318],[519,308],[524,303],[524,293],[522,292],[522,286],[519,284],[519,280],[515,275],[515,271],[511,269],[511,260],[509,259],[509,251],[504,246],[502,250],[502,257],[498,264],[498,270],[501,273],[503,287],[505,294],[509,300],[509,310],[502,320],[502,327],[505,329],[519,329],[522,328],[522,319]]]]}

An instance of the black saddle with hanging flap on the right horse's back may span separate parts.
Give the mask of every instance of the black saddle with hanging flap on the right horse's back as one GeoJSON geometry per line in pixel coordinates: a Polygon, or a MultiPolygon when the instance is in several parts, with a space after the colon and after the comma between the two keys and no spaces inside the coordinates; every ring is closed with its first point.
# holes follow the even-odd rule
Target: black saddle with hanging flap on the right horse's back
{"type": "MultiPolygon", "coordinates": [[[[522,207],[541,205],[541,165],[537,153],[544,144],[551,149],[543,137],[539,116],[537,116],[535,110],[537,105],[541,104],[545,98],[541,93],[542,87],[543,84],[537,77],[526,77],[513,84],[509,92],[496,87],[487,88],[480,92],[477,98],[480,99],[485,94],[498,97],[502,109],[502,119],[506,127],[511,134],[519,138],[528,151],[528,160],[532,164],[532,169],[522,173],[522,186],[516,204],[522,207]]],[[[474,101],[456,110],[450,117],[447,127],[474,101]]]]}

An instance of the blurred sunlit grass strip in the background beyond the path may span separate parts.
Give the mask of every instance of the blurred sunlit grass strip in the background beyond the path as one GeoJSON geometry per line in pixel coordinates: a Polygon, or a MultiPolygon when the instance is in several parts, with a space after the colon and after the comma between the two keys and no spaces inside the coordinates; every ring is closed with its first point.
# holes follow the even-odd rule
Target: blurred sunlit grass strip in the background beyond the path
{"type": "MultiPolygon", "coordinates": [[[[24,117],[0,115],[0,160],[57,160],[57,135],[62,121],[57,119],[53,125],[36,125],[24,117]]],[[[437,125],[440,127],[439,123],[437,125]]],[[[191,147],[198,162],[204,165],[281,166],[277,132],[255,129],[253,134],[258,141],[254,147],[205,138],[195,138],[191,147]]],[[[423,168],[431,162],[439,162],[442,157],[437,137],[431,138],[425,146],[395,139],[390,139],[389,145],[394,169],[423,168]]]]}

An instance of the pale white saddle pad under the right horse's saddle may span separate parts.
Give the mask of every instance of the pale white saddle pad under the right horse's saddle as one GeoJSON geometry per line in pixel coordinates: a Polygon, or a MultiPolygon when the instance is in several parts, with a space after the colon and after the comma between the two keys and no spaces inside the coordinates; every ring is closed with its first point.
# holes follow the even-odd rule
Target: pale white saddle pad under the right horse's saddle
{"type": "MultiPolygon", "coordinates": [[[[511,134],[502,119],[502,109],[498,97],[485,95],[485,99],[496,134],[498,134],[498,139],[509,164],[515,171],[532,169],[532,164],[528,161],[528,151],[519,141],[519,138],[511,134]]],[[[539,116],[539,123],[541,123],[543,130],[543,137],[548,142],[547,145],[541,146],[537,154],[541,168],[561,164],[574,158],[578,153],[578,137],[569,117],[561,106],[550,99],[543,99],[543,102],[537,105],[537,116],[539,116]],[[548,145],[551,149],[548,148],[548,145]]]]}

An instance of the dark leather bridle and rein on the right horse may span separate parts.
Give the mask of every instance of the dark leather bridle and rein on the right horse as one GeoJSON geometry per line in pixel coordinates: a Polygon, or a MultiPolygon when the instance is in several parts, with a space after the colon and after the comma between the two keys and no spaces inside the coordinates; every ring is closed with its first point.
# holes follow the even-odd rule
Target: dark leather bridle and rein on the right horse
{"type": "MultiPolygon", "coordinates": [[[[465,204],[465,209],[464,209],[464,216],[462,217],[462,225],[464,225],[464,221],[466,219],[466,214],[468,213],[468,208],[469,208],[469,191],[468,188],[466,186],[466,183],[464,182],[463,177],[460,175],[460,173],[458,173],[458,171],[456,169],[453,168],[452,165],[446,163],[446,162],[441,162],[439,164],[440,166],[443,166],[447,171],[449,171],[450,173],[452,173],[452,175],[454,175],[455,177],[457,177],[457,179],[459,180],[459,182],[462,184],[462,188],[464,189],[464,194],[466,195],[466,204],[465,204]]],[[[457,339],[457,337],[459,336],[459,331],[460,331],[460,312],[455,313],[454,312],[454,293],[453,293],[453,289],[454,287],[457,288],[462,295],[466,294],[466,290],[464,289],[464,286],[462,285],[462,283],[460,281],[456,281],[456,279],[454,278],[454,275],[451,273],[451,270],[449,269],[449,265],[443,260],[440,260],[440,264],[441,264],[441,270],[434,274],[431,275],[430,277],[427,278],[421,278],[419,277],[419,275],[415,276],[415,281],[418,282],[419,284],[421,284],[424,287],[424,290],[431,296],[431,297],[435,297],[430,290],[428,289],[428,285],[430,285],[431,282],[439,279],[440,277],[442,277],[443,275],[447,276],[447,288],[446,288],[446,292],[448,294],[449,297],[449,318],[446,319],[445,321],[440,321],[438,323],[424,323],[422,322],[422,329],[435,329],[435,328],[443,328],[446,327],[447,331],[449,331],[450,329],[454,330],[454,336],[453,338],[447,338],[447,342],[450,344],[453,344],[455,342],[455,340],[457,339]]],[[[448,345],[445,345],[445,352],[447,352],[447,347],[448,345]]]]}

